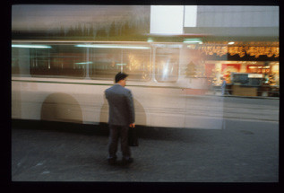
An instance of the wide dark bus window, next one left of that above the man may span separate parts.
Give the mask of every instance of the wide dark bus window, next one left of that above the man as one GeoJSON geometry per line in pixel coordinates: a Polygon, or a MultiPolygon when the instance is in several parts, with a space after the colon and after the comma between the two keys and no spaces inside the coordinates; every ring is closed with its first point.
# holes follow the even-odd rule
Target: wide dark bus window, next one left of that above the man
{"type": "Polygon", "coordinates": [[[52,45],[50,49],[30,48],[30,74],[59,77],[85,77],[85,48],[52,45]]]}

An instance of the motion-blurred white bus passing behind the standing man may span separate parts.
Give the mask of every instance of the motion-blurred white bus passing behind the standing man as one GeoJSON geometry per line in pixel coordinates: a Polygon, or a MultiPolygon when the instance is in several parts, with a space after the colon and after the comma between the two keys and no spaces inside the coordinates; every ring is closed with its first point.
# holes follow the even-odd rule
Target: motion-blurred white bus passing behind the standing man
{"type": "Polygon", "coordinates": [[[104,91],[114,84],[115,73],[124,71],[130,75],[126,87],[133,92],[137,125],[222,127],[223,99],[206,95],[206,77],[187,75],[190,62],[202,67],[203,61],[184,43],[13,40],[12,46],[12,118],[107,123],[104,91]],[[86,46],[79,49],[77,45],[86,46]],[[55,47],[63,54],[52,51],[55,47]],[[73,64],[67,64],[70,61],[73,64]],[[110,65],[115,66],[108,71],[110,65]],[[46,75],[53,66],[63,74],[46,75]],[[76,67],[82,76],[64,74],[65,69],[76,73],[76,67]]]}

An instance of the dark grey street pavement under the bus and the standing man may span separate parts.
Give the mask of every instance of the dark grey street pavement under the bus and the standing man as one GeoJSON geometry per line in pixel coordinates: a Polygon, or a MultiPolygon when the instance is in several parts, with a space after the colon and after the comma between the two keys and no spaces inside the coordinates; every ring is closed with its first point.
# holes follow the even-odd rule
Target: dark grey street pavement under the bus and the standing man
{"type": "Polygon", "coordinates": [[[108,165],[106,127],[13,124],[12,180],[278,182],[278,121],[224,123],[220,129],[137,127],[140,145],[131,147],[134,162],[126,166],[108,165]]]}

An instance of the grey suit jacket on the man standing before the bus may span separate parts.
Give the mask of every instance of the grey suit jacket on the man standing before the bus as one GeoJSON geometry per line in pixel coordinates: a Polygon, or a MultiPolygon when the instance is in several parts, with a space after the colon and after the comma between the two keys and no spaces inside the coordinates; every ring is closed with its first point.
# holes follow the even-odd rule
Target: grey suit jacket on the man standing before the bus
{"type": "Polygon", "coordinates": [[[135,122],[133,96],[130,90],[116,83],[105,91],[109,105],[108,124],[128,126],[135,122]]]}

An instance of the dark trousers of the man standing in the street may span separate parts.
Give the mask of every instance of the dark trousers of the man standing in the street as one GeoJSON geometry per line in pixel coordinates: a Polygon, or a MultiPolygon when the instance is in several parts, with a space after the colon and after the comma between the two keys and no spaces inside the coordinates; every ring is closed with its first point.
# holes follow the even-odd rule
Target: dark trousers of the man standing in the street
{"type": "Polygon", "coordinates": [[[109,158],[116,158],[119,136],[121,140],[121,151],[123,154],[123,158],[129,159],[131,157],[130,147],[128,145],[128,129],[129,126],[109,125],[109,158]]]}

